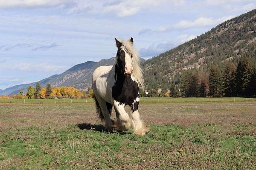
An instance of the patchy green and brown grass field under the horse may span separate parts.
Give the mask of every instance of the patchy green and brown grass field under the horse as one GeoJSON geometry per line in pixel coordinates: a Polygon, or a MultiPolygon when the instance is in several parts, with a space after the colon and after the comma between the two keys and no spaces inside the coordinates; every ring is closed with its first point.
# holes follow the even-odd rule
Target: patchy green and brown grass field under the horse
{"type": "Polygon", "coordinates": [[[143,137],[105,133],[92,99],[0,100],[0,169],[255,169],[256,99],[140,101],[143,137]]]}

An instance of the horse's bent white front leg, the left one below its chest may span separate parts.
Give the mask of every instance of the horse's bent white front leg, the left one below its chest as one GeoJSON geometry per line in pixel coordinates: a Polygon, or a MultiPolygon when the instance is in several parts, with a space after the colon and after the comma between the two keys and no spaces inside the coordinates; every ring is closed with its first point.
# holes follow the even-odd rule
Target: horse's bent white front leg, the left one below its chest
{"type": "Polygon", "coordinates": [[[114,127],[119,130],[127,131],[131,127],[130,117],[125,111],[125,104],[114,100],[116,111],[116,122],[114,127]]]}

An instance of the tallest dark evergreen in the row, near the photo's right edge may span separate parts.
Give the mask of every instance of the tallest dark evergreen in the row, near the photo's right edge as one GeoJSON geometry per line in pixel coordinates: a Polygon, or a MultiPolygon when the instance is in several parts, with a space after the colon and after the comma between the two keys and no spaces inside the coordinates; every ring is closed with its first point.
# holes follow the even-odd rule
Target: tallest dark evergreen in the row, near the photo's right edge
{"type": "Polygon", "coordinates": [[[243,56],[236,69],[236,90],[238,96],[250,96],[248,91],[249,82],[253,74],[253,69],[248,57],[243,56]]]}

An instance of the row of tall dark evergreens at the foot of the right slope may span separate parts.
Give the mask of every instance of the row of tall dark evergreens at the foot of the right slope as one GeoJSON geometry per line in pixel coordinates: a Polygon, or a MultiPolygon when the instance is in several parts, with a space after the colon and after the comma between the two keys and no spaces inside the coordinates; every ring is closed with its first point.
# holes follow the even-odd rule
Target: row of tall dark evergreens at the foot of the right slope
{"type": "Polygon", "coordinates": [[[233,62],[212,65],[209,74],[197,68],[183,71],[180,93],[187,97],[256,96],[255,63],[255,58],[244,55],[237,66],[233,62]]]}

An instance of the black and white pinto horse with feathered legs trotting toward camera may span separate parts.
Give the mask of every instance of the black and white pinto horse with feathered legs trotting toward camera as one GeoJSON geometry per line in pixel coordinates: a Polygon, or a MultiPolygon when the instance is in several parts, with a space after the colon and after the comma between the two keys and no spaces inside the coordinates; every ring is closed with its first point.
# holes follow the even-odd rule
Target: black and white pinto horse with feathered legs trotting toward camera
{"type": "Polygon", "coordinates": [[[138,106],[140,102],[139,87],[143,88],[143,75],[140,68],[140,57],[133,46],[133,39],[116,40],[116,63],[112,66],[100,66],[93,72],[92,88],[99,118],[105,121],[107,130],[129,130],[131,124],[134,133],[143,136],[148,131],[140,120],[138,106]],[[125,111],[129,105],[131,119],[125,111]],[[114,106],[116,122],[111,120],[114,106]]]}

